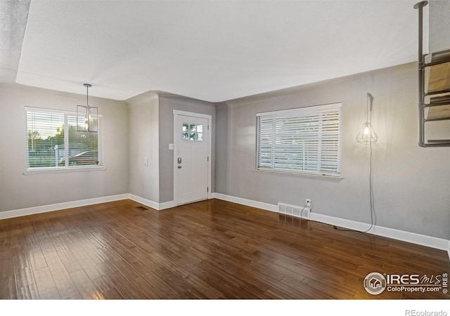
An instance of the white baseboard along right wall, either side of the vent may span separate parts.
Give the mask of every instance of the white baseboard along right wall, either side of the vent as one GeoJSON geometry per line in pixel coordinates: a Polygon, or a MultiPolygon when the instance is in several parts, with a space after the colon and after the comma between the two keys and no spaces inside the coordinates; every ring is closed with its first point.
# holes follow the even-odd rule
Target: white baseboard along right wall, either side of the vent
{"type": "MultiPolygon", "coordinates": [[[[257,202],[251,199],[243,199],[242,197],[233,197],[231,195],[223,195],[221,193],[214,193],[214,197],[216,199],[223,199],[224,201],[257,207],[258,209],[264,209],[266,211],[278,212],[278,207],[274,204],[257,202]]],[[[311,211],[310,219],[316,220],[317,222],[320,223],[326,223],[329,225],[335,225],[352,230],[365,231],[368,228],[370,228],[370,224],[367,223],[356,222],[354,220],[347,220],[345,218],[337,218],[333,216],[322,215],[319,213],[314,213],[314,211],[311,211]]],[[[420,244],[421,246],[428,246],[430,248],[446,250],[449,253],[450,258],[450,241],[446,239],[431,237],[427,235],[420,235],[414,232],[405,232],[404,230],[394,230],[392,228],[385,228],[377,225],[373,225],[373,227],[371,228],[371,230],[368,231],[368,233],[401,240],[403,242],[411,242],[412,244],[420,244]]]]}

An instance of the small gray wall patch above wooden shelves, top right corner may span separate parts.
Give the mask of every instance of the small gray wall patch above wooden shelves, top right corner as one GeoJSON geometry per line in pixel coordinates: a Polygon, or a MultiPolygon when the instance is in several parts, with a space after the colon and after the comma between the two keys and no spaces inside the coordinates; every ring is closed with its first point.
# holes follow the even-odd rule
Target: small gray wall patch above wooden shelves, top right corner
{"type": "Polygon", "coordinates": [[[429,1],[430,53],[450,49],[450,1],[429,1]]]}

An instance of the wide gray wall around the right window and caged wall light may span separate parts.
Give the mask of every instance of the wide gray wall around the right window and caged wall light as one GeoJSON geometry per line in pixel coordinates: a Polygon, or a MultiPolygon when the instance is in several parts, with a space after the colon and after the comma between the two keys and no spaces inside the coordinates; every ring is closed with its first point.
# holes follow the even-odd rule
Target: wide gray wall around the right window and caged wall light
{"type": "Polygon", "coordinates": [[[373,145],[375,224],[449,239],[450,148],[417,145],[415,62],[217,105],[216,192],[299,206],[311,198],[316,213],[370,223],[369,147],[355,140],[366,120],[367,92],[379,136],[373,145]],[[257,112],[340,102],[342,180],[255,171],[257,112]]]}

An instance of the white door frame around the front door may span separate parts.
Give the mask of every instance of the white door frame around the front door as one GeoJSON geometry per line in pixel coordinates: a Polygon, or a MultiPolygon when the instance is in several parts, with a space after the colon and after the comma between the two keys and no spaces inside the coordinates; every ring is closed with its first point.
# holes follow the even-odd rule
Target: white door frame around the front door
{"type": "Polygon", "coordinates": [[[212,174],[212,115],[209,114],[201,114],[201,113],[194,113],[194,112],[186,112],[186,111],[180,111],[180,110],[174,110],[174,117],[173,117],[173,125],[174,125],[174,136],[172,141],[174,142],[174,159],[173,159],[173,169],[174,169],[174,203],[175,205],[178,205],[178,183],[176,181],[176,170],[178,169],[178,164],[176,164],[176,157],[178,157],[178,145],[179,145],[179,138],[175,137],[177,133],[180,133],[180,130],[178,129],[179,126],[176,126],[175,124],[175,118],[177,115],[181,116],[187,116],[187,117],[200,117],[202,119],[207,119],[208,121],[208,160],[207,160],[207,172],[208,172],[208,199],[212,199],[212,188],[211,188],[211,174],[212,174]]]}

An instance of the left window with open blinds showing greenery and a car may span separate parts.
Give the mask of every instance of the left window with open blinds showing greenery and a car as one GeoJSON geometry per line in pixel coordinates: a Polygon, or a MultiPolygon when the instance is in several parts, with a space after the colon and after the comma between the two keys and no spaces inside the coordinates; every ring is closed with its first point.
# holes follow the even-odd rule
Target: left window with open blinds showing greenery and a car
{"type": "Polygon", "coordinates": [[[98,132],[77,131],[76,112],[25,107],[25,173],[103,167],[101,116],[98,132]]]}

